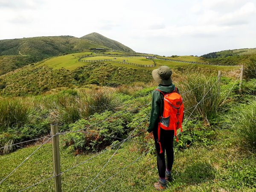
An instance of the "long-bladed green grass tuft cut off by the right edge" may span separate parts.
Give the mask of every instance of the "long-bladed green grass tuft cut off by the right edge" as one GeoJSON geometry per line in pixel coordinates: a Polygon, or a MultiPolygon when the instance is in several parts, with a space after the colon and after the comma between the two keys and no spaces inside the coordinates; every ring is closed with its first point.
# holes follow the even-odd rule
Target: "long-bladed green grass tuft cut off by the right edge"
{"type": "Polygon", "coordinates": [[[235,117],[235,128],[238,128],[239,135],[244,138],[248,148],[256,151],[256,101],[237,109],[235,117]]]}

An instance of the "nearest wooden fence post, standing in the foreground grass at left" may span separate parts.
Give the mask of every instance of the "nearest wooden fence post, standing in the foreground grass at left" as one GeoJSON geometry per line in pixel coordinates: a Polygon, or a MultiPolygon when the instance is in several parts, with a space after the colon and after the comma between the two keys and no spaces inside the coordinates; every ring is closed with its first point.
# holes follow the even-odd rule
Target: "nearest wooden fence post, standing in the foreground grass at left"
{"type": "MultiPolygon", "coordinates": [[[[51,125],[51,133],[55,135],[58,133],[58,124],[51,125]]],[[[58,134],[52,137],[52,161],[54,174],[54,188],[55,192],[61,192],[61,162],[60,162],[60,148],[58,134]]]]}

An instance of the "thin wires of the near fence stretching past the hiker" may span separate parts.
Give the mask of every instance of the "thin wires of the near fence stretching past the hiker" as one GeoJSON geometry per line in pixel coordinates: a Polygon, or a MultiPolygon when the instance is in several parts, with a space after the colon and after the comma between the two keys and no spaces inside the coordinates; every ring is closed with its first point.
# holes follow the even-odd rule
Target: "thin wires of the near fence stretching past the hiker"
{"type": "MultiPolygon", "coordinates": [[[[239,74],[239,76],[240,76],[240,75],[241,75],[241,74],[239,74]]],[[[239,76],[237,77],[236,81],[239,79],[239,76]]],[[[210,81],[211,81],[211,80],[210,80],[210,81]]],[[[210,81],[207,81],[205,84],[209,83],[210,81]]],[[[228,92],[228,94],[227,94],[227,97],[229,96],[230,92],[232,91],[234,85],[236,84],[236,81],[234,82],[233,86],[232,86],[231,89],[229,90],[229,92],[228,92]]],[[[186,123],[189,121],[189,119],[191,119],[192,113],[195,111],[195,109],[198,107],[198,105],[199,105],[201,102],[204,102],[206,99],[209,98],[209,97],[206,98],[207,93],[209,93],[209,91],[215,86],[216,83],[218,83],[218,80],[215,81],[215,82],[212,84],[212,86],[209,88],[209,90],[204,94],[204,96],[202,97],[202,99],[201,99],[195,106],[193,106],[193,107],[191,107],[191,108],[185,110],[185,111],[188,111],[188,110],[194,108],[194,109],[192,110],[192,112],[189,114],[189,116],[186,117],[186,122],[183,123],[183,126],[186,125],[186,123]]],[[[193,88],[192,90],[194,90],[194,89],[196,89],[196,88],[198,88],[198,87],[201,87],[201,86],[203,86],[203,85],[204,85],[204,84],[198,85],[197,87],[193,88]]],[[[181,95],[186,94],[186,93],[189,93],[189,92],[192,91],[192,90],[189,90],[189,91],[187,91],[187,92],[185,92],[185,93],[182,93],[181,95]]],[[[217,93],[216,93],[216,94],[217,94],[217,93]]],[[[211,95],[211,96],[213,96],[213,95],[211,95]]],[[[210,97],[211,97],[211,96],[210,96],[210,97]]],[[[227,97],[225,98],[225,100],[227,99],[227,97]]],[[[116,140],[121,140],[120,143],[116,143],[115,145],[111,146],[112,148],[114,148],[115,146],[118,146],[118,147],[117,147],[117,149],[113,152],[113,154],[111,155],[111,157],[107,160],[107,162],[106,162],[105,165],[102,167],[102,169],[99,170],[98,174],[91,180],[91,182],[90,182],[89,185],[86,187],[86,189],[84,190],[84,192],[87,191],[87,189],[89,189],[89,187],[91,186],[91,184],[96,180],[96,178],[99,176],[99,174],[105,169],[105,167],[108,165],[108,163],[110,163],[111,159],[114,157],[114,155],[117,153],[117,151],[121,148],[121,146],[122,146],[125,142],[134,142],[134,143],[141,143],[141,144],[148,145],[148,143],[139,142],[139,141],[137,141],[137,140],[134,141],[134,140],[131,140],[131,139],[136,138],[137,135],[146,132],[146,130],[144,130],[144,131],[140,131],[140,132],[137,133],[137,134],[134,134],[135,131],[137,131],[137,129],[143,124],[143,122],[145,122],[145,120],[148,119],[150,113],[145,116],[145,118],[137,125],[136,128],[134,128],[133,131],[131,131],[131,133],[130,133],[130,134],[128,135],[128,137],[126,137],[125,139],[120,138],[120,137],[111,136],[111,135],[106,135],[106,134],[93,133],[93,132],[90,132],[90,131],[86,131],[86,129],[88,129],[88,128],[92,127],[92,126],[95,126],[95,125],[99,125],[100,123],[102,123],[102,122],[104,122],[104,121],[107,121],[108,119],[115,118],[115,117],[117,117],[117,116],[120,116],[120,115],[122,115],[122,114],[131,112],[131,111],[136,111],[137,109],[142,108],[142,107],[146,107],[146,106],[148,106],[148,105],[150,105],[150,103],[146,103],[146,104],[144,104],[144,105],[140,105],[140,106],[138,106],[137,108],[133,108],[133,109],[131,109],[131,110],[126,110],[126,111],[123,111],[123,112],[121,112],[121,113],[117,113],[117,114],[115,114],[115,115],[113,115],[113,116],[110,116],[110,117],[108,117],[108,118],[106,118],[106,119],[103,119],[103,120],[100,121],[100,122],[96,122],[96,123],[94,123],[94,124],[91,124],[91,125],[89,125],[89,126],[87,126],[87,127],[84,127],[84,128],[82,128],[82,129],[79,129],[79,130],[76,130],[76,131],[66,131],[66,132],[63,132],[63,133],[58,133],[58,135],[64,135],[64,134],[67,134],[67,133],[80,132],[80,133],[84,133],[84,134],[97,134],[97,135],[101,135],[101,136],[104,136],[104,137],[112,137],[112,138],[114,138],[114,139],[116,139],[116,140]]],[[[186,131],[186,130],[184,130],[184,131],[186,131]]],[[[181,132],[179,132],[177,135],[179,135],[179,134],[181,134],[181,132]]],[[[13,169],[13,171],[10,172],[9,175],[7,175],[3,180],[1,180],[1,181],[0,181],[0,184],[3,183],[3,182],[4,182],[10,175],[12,175],[20,166],[22,166],[23,163],[25,163],[26,160],[29,159],[29,157],[31,157],[33,154],[35,154],[36,151],[38,151],[44,144],[46,144],[47,142],[49,142],[49,141],[52,139],[52,137],[55,137],[56,135],[57,135],[57,134],[55,134],[55,135],[48,135],[48,136],[45,136],[45,137],[40,137],[40,138],[38,138],[38,139],[33,139],[33,140],[29,140],[29,141],[24,141],[24,142],[12,144],[12,145],[19,145],[19,144],[23,144],[23,143],[26,143],[26,142],[31,142],[31,141],[41,140],[41,139],[46,139],[46,138],[47,138],[47,140],[44,141],[44,143],[42,143],[38,148],[36,148],[35,151],[33,151],[33,152],[32,152],[28,157],[26,157],[26,159],[24,159],[15,169],[13,169]]],[[[10,146],[12,146],[12,145],[7,145],[7,146],[5,146],[5,147],[10,147],[10,146]]],[[[2,148],[4,148],[4,147],[2,147],[2,148]]],[[[1,148],[0,148],[0,149],[1,149],[1,148]]],[[[110,149],[111,149],[111,148],[110,148],[110,149]]],[[[63,172],[61,172],[61,173],[58,174],[58,175],[64,174],[64,173],[70,171],[71,169],[75,169],[76,167],[81,166],[82,164],[89,162],[89,161],[92,160],[93,158],[98,157],[99,155],[105,153],[105,152],[108,151],[108,150],[109,150],[109,149],[107,148],[107,149],[105,149],[105,150],[99,152],[98,154],[94,155],[93,157],[90,157],[89,159],[84,160],[84,161],[82,161],[81,163],[78,163],[78,164],[76,164],[76,165],[74,165],[74,166],[72,166],[72,167],[70,167],[70,168],[64,170],[63,172]]],[[[151,149],[151,150],[152,150],[152,149],[151,149]]],[[[98,189],[100,186],[102,186],[103,184],[105,184],[108,180],[111,180],[111,178],[113,178],[114,176],[116,176],[117,174],[119,174],[119,172],[122,172],[123,170],[127,169],[129,166],[131,166],[132,164],[134,164],[135,162],[137,162],[138,160],[140,160],[143,156],[145,156],[145,154],[148,154],[151,150],[148,150],[148,151],[145,152],[144,154],[140,155],[140,157],[137,157],[136,160],[132,161],[132,162],[129,163],[127,166],[125,166],[124,168],[120,169],[119,171],[117,171],[116,173],[114,173],[113,175],[111,175],[111,176],[110,176],[109,178],[107,178],[106,180],[102,181],[102,183],[100,183],[100,184],[97,185],[95,188],[93,188],[93,189],[91,190],[91,192],[93,192],[93,191],[95,191],[96,189],[98,189]]],[[[44,179],[44,180],[41,180],[41,181],[39,181],[39,182],[37,182],[37,183],[31,185],[31,186],[28,186],[28,187],[26,187],[26,188],[24,188],[24,189],[21,189],[19,192],[24,191],[24,190],[26,190],[26,189],[29,189],[29,188],[31,188],[31,187],[33,187],[33,186],[36,186],[36,185],[40,184],[40,183],[43,183],[44,181],[50,180],[50,179],[52,179],[52,178],[54,178],[54,177],[57,177],[58,175],[53,175],[53,176],[48,177],[48,178],[46,178],[46,179],[44,179]]]]}

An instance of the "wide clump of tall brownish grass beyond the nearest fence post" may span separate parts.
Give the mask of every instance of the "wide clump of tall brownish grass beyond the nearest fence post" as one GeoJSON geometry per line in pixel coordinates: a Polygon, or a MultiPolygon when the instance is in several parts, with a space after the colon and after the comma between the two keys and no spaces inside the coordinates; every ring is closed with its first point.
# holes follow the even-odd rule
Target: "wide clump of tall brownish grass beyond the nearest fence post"
{"type": "Polygon", "coordinates": [[[53,96],[45,96],[38,101],[39,108],[47,109],[51,122],[60,125],[76,122],[81,118],[113,111],[119,105],[111,90],[64,90],[53,96]]]}

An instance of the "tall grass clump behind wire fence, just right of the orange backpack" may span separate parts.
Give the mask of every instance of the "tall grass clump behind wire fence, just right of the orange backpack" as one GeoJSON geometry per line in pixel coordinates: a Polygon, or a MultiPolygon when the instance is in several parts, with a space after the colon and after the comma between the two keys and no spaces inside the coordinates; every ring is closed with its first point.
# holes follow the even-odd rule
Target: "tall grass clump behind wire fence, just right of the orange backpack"
{"type": "Polygon", "coordinates": [[[199,116],[209,123],[217,117],[221,105],[216,78],[199,75],[182,76],[178,85],[186,116],[199,116]]]}

